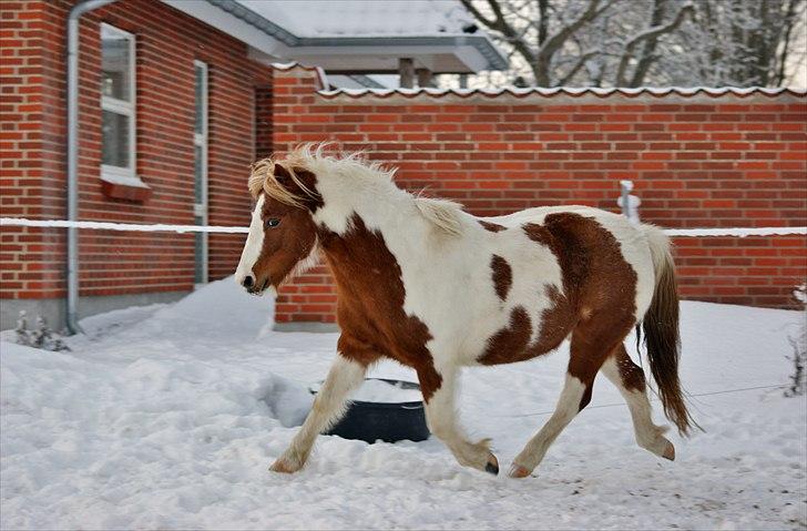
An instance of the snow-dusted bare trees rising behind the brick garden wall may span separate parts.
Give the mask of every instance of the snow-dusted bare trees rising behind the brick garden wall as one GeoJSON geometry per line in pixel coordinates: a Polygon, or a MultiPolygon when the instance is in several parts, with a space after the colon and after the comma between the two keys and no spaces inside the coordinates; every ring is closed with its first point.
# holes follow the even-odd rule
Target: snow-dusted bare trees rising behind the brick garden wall
{"type": "Polygon", "coordinates": [[[538,86],[786,83],[807,0],[460,0],[538,86]]]}

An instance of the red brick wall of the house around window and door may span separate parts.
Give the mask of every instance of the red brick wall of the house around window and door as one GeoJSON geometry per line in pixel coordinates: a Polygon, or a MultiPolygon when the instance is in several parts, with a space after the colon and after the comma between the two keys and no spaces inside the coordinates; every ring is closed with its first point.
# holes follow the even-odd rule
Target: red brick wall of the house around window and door
{"type": "MultiPolygon", "coordinates": [[[[65,20],[73,3],[0,4],[2,216],[65,216],[65,20]]],[[[193,61],[201,60],[208,64],[210,224],[247,224],[254,91],[270,84],[270,69],[249,60],[244,43],[156,0],[84,16],[80,50],[80,218],[193,224],[193,61]],[[101,188],[102,21],[135,34],[136,173],[152,190],[144,202],[101,188]]],[[[0,297],[64,296],[63,229],[3,227],[0,242],[0,297]]],[[[211,278],[233,272],[242,244],[239,235],[210,236],[211,278]]],[[[193,248],[193,235],[81,231],[81,294],[192,289],[193,248]]]]}

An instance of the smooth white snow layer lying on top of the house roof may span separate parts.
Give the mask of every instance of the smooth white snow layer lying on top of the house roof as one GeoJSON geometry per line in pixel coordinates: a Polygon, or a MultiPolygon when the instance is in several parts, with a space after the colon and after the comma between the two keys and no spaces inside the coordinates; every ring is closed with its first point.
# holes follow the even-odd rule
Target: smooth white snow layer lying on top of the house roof
{"type": "Polygon", "coordinates": [[[297,37],[462,34],[473,23],[459,0],[237,0],[297,37]]]}

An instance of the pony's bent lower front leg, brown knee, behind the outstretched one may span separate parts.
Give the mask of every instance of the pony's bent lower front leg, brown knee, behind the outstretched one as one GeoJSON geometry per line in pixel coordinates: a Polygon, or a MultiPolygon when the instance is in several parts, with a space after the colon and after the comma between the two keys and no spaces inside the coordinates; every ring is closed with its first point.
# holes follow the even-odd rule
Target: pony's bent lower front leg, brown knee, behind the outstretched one
{"type": "Polygon", "coordinates": [[[426,420],[431,432],[451,450],[460,464],[496,476],[499,473],[499,461],[490,451],[490,439],[469,442],[459,426],[454,404],[458,372],[456,367],[443,368],[441,371],[433,367],[418,370],[426,404],[426,420]]]}

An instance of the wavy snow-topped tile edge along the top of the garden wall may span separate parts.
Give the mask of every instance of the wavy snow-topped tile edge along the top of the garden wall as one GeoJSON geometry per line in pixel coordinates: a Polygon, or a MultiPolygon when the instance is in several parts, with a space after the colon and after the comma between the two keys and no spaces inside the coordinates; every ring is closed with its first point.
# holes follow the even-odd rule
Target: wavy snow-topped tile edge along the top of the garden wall
{"type": "MultiPolygon", "coordinates": [[[[326,85],[327,86],[327,85],[326,85]]],[[[705,94],[712,98],[717,98],[724,94],[733,94],[738,95],[740,98],[748,96],[753,94],[764,94],[766,96],[775,96],[783,93],[796,95],[796,96],[804,96],[807,95],[807,90],[805,89],[788,89],[788,88],[778,88],[778,89],[767,89],[764,86],[748,86],[748,88],[739,88],[739,86],[718,86],[718,88],[709,88],[709,86],[693,86],[693,88],[683,88],[683,86],[641,86],[636,89],[601,89],[596,86],[591,88],[571,88],[571,86],[558,86],[552,89],[545,89],[545,88],[529,88],[529,89],[518,89],[514,86],[507,86],[502,89],[432,89],[432,88],[425,88],[425,89],[337,89],[337,90],[320,90],[319,95],[333,99],[338,98],[340,95],[346,95],[348,98],[360,98],[364,95],[375,95],[378,98],[389,98],[391,95],[398,94],[402,95],[404,98],[417,98],[420,95],[427,95],[431,98],[443,98],[446,95],[456,95],[459,98],[470,98],[473,95],[482,95],[487,98],[496,98],[502,94],[509,94],[515,98],[525,98],[532,94],[539,94],[543,96],[553,96],[553,95],[569,95],[572,98],[578,98],[582,95],[593,94],[599,98],[605,98],[611,94],[622,94],[626,95],[629,98],[640,96],[644,94],[662,98],[665,95],[674,94],[674,95],[682,95],[682,96],[695,96],[699,94],[705,94]]]]}

